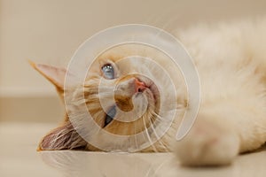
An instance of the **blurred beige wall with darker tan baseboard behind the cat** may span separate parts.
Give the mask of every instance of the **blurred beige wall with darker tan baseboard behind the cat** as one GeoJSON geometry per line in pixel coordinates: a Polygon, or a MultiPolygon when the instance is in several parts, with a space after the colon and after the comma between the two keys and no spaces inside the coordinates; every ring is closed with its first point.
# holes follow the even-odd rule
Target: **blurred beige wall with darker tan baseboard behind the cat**
{"type": "Polygon", "coordinates": [[[265,10],[265,0],[0,0],[0,124],[59,122],[64,115],[55,89],[28,59],[66,66],[87,38],[120,24],[171,31],[265,10]]]}

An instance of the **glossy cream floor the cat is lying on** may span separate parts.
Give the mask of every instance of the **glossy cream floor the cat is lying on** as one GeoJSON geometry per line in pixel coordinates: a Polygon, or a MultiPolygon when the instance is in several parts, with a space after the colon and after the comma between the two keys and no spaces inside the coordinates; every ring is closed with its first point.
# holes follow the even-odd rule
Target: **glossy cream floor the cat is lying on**
{"type": "Polygon", "coordinates": [[[188,168],[171,153],[36,152],[51,124],[0,124],[0,176],[194,177],[266,176],[266,150],[239,156],[232,165],[188,168]]]}

